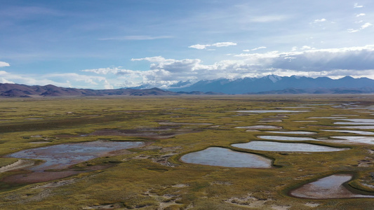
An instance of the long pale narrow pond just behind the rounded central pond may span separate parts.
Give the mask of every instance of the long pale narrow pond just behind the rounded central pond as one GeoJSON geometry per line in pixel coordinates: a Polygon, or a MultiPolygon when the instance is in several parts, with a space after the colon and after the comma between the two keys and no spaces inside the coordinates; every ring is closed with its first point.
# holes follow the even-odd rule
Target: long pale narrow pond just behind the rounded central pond
{"type": "Polygon", "coordinates": [[[348,148],[333,148],[330,146],[320,146],[314,144],[281,143],[272,141],[251,141],[243,144],[232,144],[232,146],[255,151],[274,152],[336,152],[348,150],[348,148]]]}

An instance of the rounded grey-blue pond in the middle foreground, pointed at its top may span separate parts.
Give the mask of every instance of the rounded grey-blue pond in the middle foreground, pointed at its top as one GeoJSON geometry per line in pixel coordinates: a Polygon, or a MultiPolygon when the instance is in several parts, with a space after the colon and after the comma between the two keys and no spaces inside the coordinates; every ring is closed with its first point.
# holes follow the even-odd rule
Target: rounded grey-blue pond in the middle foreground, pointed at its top
{"type": "Polygon", "coordinates": [[[272,160],[254,155],[241,153],[227,148],[210,147],[203,151],[189,153],[180,158],[182,162],[211,165],[220,167],[271,168],[272,160]]]}

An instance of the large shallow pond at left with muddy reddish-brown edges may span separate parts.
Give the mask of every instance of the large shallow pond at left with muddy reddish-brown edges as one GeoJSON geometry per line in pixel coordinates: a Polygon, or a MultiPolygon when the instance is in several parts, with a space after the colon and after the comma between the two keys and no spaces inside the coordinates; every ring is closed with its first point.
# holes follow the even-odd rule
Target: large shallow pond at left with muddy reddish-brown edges
{"type": "MultiPolygon", "coordinates": [[[[90,141],[83,143],[58,144],[40,148],[32,148],[6,155],[6,158],[25,158],[43,160],[40,165],[27,168],[33,173],[8,176],[5,182],[36,183],[51,181],[79,174],[85,171],[69,169],[79,162],[85,162],[103,156],[121,155],[128,148],[145,146],[143,141],[90,141]]],[[[128,152],[127,152],[128,153],[128,152]]],[[[93,167],[93,169],[95,169],[93,167]]]]}

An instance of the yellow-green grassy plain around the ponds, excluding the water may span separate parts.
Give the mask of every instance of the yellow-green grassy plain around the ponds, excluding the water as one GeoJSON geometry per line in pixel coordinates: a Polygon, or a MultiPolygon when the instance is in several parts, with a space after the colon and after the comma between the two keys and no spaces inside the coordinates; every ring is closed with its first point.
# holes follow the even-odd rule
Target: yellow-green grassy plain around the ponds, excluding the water
{"type": "Polygon", "coordinates": [[[99,139],[149,142],[128,153],[78,163],[72,168],[83,173],[55,181],[6,183],[8,176],[30,172],[27,168],[1,172],[0,209],[373,209],[373,198],[312,200],[288,193],[332,174],[353,174],[354,179],[345,186],[374,195],[374,144],[302,141],[350,148],[330,153],[251,151],[232,146],[269,141],[258,136],[269,135],[267,131],[272,129],[247,132],[235,128],[251,125],[315,132],[286,134],[290,137],[347,136],[323,131],[342,130],[330,117],[373,118],[371,106],[373,95],[0,99],[0,167],[18,162],[5,155],[29,148],[99,139]],[[255,109],[307,112],[236,113],[255,109]],[[268,118],[281,122],[259,122],[268,118]],[[97,131],[100,135],[94,133],[97,131]],[[213,167],[180,161],[182,155],[212,146],[265,156],[273,160],[273,167],[213,167]],[[91,166],[106,167],[85,171],[91,166]]]}

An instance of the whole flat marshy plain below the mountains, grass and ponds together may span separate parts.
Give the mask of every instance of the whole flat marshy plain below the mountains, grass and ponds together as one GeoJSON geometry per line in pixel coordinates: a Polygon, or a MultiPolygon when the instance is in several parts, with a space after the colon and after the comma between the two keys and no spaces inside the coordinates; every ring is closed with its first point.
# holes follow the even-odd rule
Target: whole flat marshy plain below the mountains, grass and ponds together
{"type": "Polygon", "coordinates": [[[0,209],[370,209],[373,106],[373,95],[1,99],[0,209]]]}

